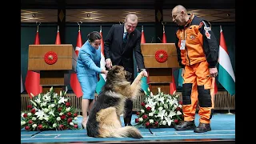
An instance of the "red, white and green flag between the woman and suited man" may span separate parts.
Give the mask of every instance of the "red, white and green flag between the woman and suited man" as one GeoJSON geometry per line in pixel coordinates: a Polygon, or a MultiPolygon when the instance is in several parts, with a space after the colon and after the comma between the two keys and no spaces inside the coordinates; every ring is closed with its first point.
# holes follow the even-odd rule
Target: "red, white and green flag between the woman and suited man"
{"type": "MultiPolygon", "coordinates": [[[[99,30],[99,33],[102,36],[102,26],[101,29],[99,30]]],[[[101,40],[101,62],[100,62],[100,66],[102,69],[106,69],[105,68],[106,62],[105,62],[105,56],[104,56],[104,40],[103,40],[103,36],[102,36],[102,40],[101,40]]],[[[97,82],[97,86],[96,86],[96,92],[97,94],[99,94],[102,90],[102,86],[105,85],[106,83],[106,74],[99,74],[99,81],[97,82]]]]}

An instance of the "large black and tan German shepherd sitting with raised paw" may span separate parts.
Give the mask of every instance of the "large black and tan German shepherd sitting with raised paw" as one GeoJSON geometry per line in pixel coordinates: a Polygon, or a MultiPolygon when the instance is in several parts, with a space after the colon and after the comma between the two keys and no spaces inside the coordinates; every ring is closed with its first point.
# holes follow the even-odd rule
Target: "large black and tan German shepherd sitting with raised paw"
{"type": "Polygon", "coordinates": [[[141,90],[142,73],[134,82],[128,81],[130,72],[122,66],[113,66],[107,76],[106,84],[91,108],[86,124],[87,135],[95,138],[142,138],[134,126],[122,127],[120,115],[124,112],[126,98],[136,98],[141,90]]]}

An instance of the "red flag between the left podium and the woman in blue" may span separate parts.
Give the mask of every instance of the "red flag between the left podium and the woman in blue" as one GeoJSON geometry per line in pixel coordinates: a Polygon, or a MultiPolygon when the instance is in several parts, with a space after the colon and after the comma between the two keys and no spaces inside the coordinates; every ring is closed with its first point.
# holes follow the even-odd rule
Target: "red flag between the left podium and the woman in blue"
{"type": "MultiPolygon", "coordinates": [[[[75,48],[75,54],[78,55],[80,48],[82,47],[82,36],[80,32],[80,26],[78,30],[78,39],[77,39],[77,46],[75,48]]],[[[78,75],[75,74],[70,74],[70,86],[72,90],[74,91],[74,94],[80,98],[82,97],[82,88],[80,86],[80,83],[78,81],[78,75]]]]}

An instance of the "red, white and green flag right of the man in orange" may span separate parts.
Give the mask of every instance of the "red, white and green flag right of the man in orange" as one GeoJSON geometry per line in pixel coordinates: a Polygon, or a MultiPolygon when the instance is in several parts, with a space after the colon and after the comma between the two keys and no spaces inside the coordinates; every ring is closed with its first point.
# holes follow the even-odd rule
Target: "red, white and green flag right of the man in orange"
{"type": "Polygon", "coordinates": [[[218,82],[230,93],[235,94],[234,70],[230,62],[230,56],[227,51],[222,26],[220,26],[220,42],[218,52],[218,82]]]}

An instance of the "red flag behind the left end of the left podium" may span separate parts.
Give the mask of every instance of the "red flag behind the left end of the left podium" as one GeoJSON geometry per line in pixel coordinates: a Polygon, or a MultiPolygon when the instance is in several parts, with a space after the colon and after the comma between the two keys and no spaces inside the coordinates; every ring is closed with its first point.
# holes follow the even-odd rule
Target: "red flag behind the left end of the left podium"
{"type": "MultiPolygon", "coordinates": [[[[38,29],[38,28],[37,28],[38,29]]],[[[35,36],[34,45],[40,45],[39,33],[35,36]]],[[[32,98],[31,94],[38,95],[42,93],[42,86],[40,85],[40,73],[28,70],[25,80],[25,88],[27,94],[32,98]]]]}

